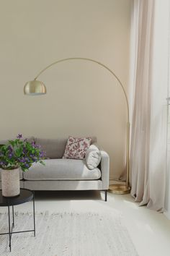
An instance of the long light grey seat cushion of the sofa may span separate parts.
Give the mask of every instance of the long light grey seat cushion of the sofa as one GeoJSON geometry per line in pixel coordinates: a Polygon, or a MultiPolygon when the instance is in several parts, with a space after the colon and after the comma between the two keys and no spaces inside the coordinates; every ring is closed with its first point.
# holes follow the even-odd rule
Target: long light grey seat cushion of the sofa
{"type": "Polygon", "coordinates": [[[26,180],[93,180],[101,178],[99,168],[89,170],[84,160],[46,159],[45,166],[33,164],[24,173],[26,180]]]}

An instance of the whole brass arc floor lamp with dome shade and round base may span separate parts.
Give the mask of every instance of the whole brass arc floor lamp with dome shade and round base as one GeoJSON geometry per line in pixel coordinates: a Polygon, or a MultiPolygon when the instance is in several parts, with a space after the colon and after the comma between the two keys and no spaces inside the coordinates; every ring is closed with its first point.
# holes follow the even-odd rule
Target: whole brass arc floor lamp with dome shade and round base
{"type": "Polygon", "coordinates": [[[115,194],[128,194],[130,192],[130,184],[129,184],[129,153],[130,153],[130,119],[129,119],[129,103],[128,103],[128,96],[125,92],[125,88],[122,85],[122,82],[120,82],[120,79],[117,77],[115,72],[113,72],[109,67],[105,66],[99,61],[96,61],[94,59],[88,59],[88,58],[66,58],[66,59],[59,59],[58,61],[53,62],[52,64],[48,65],[48,67],[45,67],[45,69],[42,69],[40,73],[37,74],[35,77],[35,80],[27,82],[24,85],[24,94],[26,95],[44,95],[46,94],[47,90],[43,82],[37,80],[37,78],[42,74],[42,72],[45,72],[46,69],[49,69],[55,64],[61,63],[63,61],[91,61],[95,64],[98,64],[101,67],[104,67],[104,69],[107,69],[109,73],[115,77],[117,82],[119,82],[120,87],[122,88],[122,93],[125,95],[125,102],[127,106],[127,115],[128,115],[128,121],[127,121],[127,142],[126,142],[126,181],[124,184],[112,184],[109,186],[109,191],[115,194]]]}

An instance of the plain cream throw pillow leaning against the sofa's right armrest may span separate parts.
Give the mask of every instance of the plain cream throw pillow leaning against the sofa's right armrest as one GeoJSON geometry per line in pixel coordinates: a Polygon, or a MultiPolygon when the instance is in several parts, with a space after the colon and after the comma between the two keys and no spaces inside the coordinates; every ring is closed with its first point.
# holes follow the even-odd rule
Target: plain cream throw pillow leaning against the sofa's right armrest
{"type": "Polygon", "coordinates": [[[86,155],[85,155],[86,166],[90,170],[97,168],[97,166],[99,166],[101,158],[102,158],[102,155],[99,148],[97,148],[97,145],[95,143],[91,144],[90,147],[86,150],[86,155]]]}

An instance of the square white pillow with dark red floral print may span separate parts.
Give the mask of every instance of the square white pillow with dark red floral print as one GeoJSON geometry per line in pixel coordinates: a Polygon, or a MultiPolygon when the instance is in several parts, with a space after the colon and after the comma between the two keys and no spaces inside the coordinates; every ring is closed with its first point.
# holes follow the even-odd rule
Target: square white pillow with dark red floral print
{"type": "Polygon", "coordinates": [[[68,137],[63,158],[84,159],[86,150],[90,146],[91,139],[92,139],[91,137],[86,137],[86,138],[68,137]]]}

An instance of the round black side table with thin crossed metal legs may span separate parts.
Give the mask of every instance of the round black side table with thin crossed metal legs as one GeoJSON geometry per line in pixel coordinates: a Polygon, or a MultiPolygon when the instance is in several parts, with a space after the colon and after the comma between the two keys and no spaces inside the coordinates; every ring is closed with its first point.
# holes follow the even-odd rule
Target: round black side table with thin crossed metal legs
{"type": "Polygon", "coordinates": [[[8,207],[8,220],[9,220],[9,232],[1,233],[0,235],[9,234],[9,249],[12,250],[12,234],[23,233],[23,232],[34,232],[35,235],[35,193],[30,189],[20,189],[20,195],[17,197],[3,197],[0,190],[0,206],[8,207]],[[13,231],[14,228],[14,205],[21,205],[24,202],[33,202],[33,223],[34,229],[24,231],[13,231]],[[12,226],[10,218],[10,206],[12,206],[12,226]]]}

